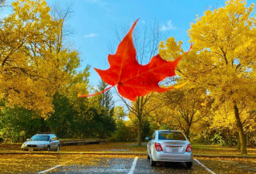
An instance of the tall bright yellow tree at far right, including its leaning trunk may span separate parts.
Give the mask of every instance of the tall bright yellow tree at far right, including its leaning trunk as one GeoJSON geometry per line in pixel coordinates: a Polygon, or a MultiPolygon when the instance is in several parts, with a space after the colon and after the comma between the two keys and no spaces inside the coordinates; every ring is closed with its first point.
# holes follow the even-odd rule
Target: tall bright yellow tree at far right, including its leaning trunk
{"type": "MultiPolygon", "coordinates": [[[[207,10],[189,29],[189,37],[198,51],[194,81],[209,90],[213,107],[226,104],[234,111],[241,153],[247,154],[241,106],[255,110],[256,29],[252,15],[254,4],[230,0],[226,6],[207,10]]],[[[189,63],[189,62],[188,62],[189,63]]]]}

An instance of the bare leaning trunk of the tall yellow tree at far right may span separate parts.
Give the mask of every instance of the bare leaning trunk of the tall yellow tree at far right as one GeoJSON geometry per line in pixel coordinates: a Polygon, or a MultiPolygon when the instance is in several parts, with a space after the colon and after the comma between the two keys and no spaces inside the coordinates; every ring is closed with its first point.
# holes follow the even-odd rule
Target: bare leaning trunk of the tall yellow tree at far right
{"type": "Polygon", "coordinates": [[[240,121],[237,104],[234,104],[234,114],[236,117],[237,131],[238,131],[238,135],[239,135],[239,139],[240,139],[240,152],[242,155],[247,155],[244,129],[243,129],[243,125],[240,121]]]}

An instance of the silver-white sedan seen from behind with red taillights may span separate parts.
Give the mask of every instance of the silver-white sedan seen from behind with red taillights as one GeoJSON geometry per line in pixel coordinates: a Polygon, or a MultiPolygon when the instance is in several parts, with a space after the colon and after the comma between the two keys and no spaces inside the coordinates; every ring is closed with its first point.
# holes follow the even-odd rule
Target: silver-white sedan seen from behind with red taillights
{"type": "Polygon", "coordinates": [[[155,166],[157,161],[185,162],[186,167],[191,168],[192,145],[182,131],[157,130],[147,143],[147,159],[150,159],[151,166],[155,166]]]}

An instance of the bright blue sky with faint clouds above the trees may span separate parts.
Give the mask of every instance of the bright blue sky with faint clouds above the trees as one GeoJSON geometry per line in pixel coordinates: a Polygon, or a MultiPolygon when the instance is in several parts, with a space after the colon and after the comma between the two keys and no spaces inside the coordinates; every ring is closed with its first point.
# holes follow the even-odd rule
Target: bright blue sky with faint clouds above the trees
{"type": "MultiPolygon", "coordinates": [[[[10,2],[11,0],[9,0],[10,2]]],[[[106,70],[109,44],[115,37],[115,27],[124,23],[137,26],[157,22],[168,37],[182,40],[189,48],[188,29],[195,22],[196,15],[202,16],[207,9],[217,9],[225,5],[224,0],[46,0],[48,5],[64,7],[71,5],[72,16],[67,27],[73,31],[68,41],[81,53],[81,67],[91,65],[90,83],[99,84],[100,77],[93,67],[106,70]]],[[[9,3],[8,2],[8,3],[9,3]]],[[[247,0],[251,4],[254,0],[247,0]]],[[[4,16],[5,11],[1,16],[4,16]]],[[[118,43],[114,48],[117,48],[118,43]]],[[[114,51],[116,52],[116,50],[114,51]]]]}

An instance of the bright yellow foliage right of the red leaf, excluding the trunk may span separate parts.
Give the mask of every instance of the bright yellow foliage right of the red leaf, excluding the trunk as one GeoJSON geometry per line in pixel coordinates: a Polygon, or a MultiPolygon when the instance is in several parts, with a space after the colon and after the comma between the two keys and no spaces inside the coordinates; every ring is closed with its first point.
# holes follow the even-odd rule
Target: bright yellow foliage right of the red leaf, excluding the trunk
{"type": "MultiPolygon", "coordinates": [[[[206,90],[202,98],[213,101],[214,117],[209,121],[212,128],[236,127],[234,106],[237,106],[245,131],[255,131],[256,19],[253,12],[254,4],[230,0],[225,7],[198,16],[189,29],[192,51],[180,60],[175,80],[178,84],[189,80],[184,89],[206,90]]],[[[160,44],[159,53],[165,60],[174,60],[184,53],[182,42],[169,38],[160,44]]]]}

